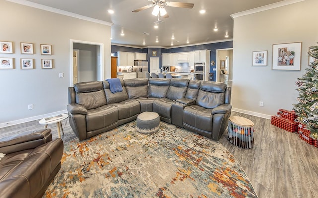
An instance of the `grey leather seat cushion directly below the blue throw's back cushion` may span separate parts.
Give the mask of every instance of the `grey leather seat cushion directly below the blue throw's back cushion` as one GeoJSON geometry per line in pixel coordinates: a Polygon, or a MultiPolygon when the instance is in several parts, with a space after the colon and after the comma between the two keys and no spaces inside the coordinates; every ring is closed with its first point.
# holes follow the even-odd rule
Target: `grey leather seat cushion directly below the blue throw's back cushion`
{"type": "Polygon", "coordinates": [[[140,113],[140,104],[134,99],[128,99],[109,105],[115,106],[118,109],[118,120],[130,118],[140,113]]]}

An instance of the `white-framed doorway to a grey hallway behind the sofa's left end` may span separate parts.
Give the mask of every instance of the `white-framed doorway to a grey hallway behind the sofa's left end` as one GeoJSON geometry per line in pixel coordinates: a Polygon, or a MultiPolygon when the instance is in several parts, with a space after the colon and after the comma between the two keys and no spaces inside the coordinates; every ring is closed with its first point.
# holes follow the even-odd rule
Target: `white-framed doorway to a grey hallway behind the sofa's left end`
{"type": "Polygon", "coordinates": [[[77,82],[103,80],[103,55],[103,43],[70,40],[70,86],[77,82]],[[76,59],[74,51],[76,51],[76,59]]]}

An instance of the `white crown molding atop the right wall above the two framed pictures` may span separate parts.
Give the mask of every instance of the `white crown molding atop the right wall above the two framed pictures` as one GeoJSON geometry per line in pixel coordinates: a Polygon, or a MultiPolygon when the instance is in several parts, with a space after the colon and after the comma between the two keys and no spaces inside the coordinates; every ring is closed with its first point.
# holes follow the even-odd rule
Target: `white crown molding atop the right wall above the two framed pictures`
{"type": "Polygon", "coordinates": [[[266,10],[270,10],[270,9],[275,9],[275,8],[278,8],[278,7],[282,7],[282,6],[286,6],[286,5],[290,5],[290,4],[294,4],[294,3],[298,3],[298,2],[302,2],[302,1],[305,1],[305,0],[284,0],[284,1],[277,2],[277,3],[265,5],[265,6],[262,6],[262,7],[257,7],[257,8],[254,8],[254,9],[250,9],[250,10],[234,13],[234,14],[231,14],[230,16],[232,18],[237,18],[237,17],[241,17],[241,16],[245,16],[245,15],[249,15],[249,14],[255,14],[257,12],[262,12],[262,11],[266,11],[266,10]]]}

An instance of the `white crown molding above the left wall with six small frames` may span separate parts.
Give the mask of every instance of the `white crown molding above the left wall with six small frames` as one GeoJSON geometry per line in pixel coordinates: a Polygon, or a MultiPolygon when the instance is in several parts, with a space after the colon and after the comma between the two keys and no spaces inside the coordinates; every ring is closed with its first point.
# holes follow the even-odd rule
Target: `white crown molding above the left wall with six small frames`
{"type": "Polygon", "coordinates": [[[33,3],[33,2],[30,2],[30,1],[26,1],[26,0],[5,0],[5,1],[9,1],[9,2],[12,2],[12,3],[17,3],[17,4],[20,4],[20,5],[25,5],[25,6],[33,7],[33,8],[37,8],[37,9],[42,9],[42,10],[45,10],[45,11],[49,11],[49,12],[53,12],[53,13],[61,14],[61,15],[65,15],[65,16],[70,16],[70,17],[78,18],[78,19],[85,20],[85,21],[99,23],[99,24],[102,24],[102,25],[107,25],[107,26],[112,26],[113,25],[112,23],[107,22],[107,21],[98,20],[98,19],[95,19],[95,18],[87,17],[87,16],[82,16],[82,15],[79,15],[79,14],[63,11],[63,10],[60,10],[60,9],[56,9],[56,8],[53,8],[53,7],[41,5],[41,4],[38,4],[38,3],[33,3]]]}

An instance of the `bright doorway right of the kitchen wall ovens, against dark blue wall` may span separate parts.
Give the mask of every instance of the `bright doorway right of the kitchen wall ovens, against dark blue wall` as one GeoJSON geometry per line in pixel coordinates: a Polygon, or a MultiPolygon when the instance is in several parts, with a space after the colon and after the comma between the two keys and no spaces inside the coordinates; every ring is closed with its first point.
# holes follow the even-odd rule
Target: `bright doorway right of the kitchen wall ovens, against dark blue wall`
{"type": "Polygon", "coordinates": [[[215,71],[215,81],[216,82],[227,82],[227,84],[232,84],[233,76],[233,48],[219,49],[216,50],[216,71],[215,71]],[[221,62],[224,63],[221,68],[221,62]],[[228,75],[222,75],[221,70],[224,70],[228,75]]]}

